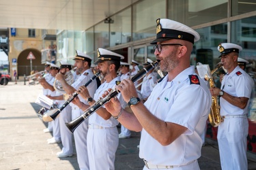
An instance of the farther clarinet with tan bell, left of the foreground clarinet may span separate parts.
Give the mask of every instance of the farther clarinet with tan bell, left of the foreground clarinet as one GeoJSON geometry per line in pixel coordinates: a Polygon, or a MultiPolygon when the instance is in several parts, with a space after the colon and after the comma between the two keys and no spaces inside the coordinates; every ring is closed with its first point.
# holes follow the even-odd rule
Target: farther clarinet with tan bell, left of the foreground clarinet
{"type": "MultiPolygon", "coordinates": [[[[85,87],[89,86],[89,84],[90,84],[92,81],[94,81],[99,75],[100,75],[100,72],[94,74],[94,76],[92,76],[91,79],[90,79],[86,84],[83,84],[83,86],[85,86],[85,87]]],[[[74,93],[72,94],[72,97],[70,97],[68,100],[66,100],[65,103],[63,103],[63,105],[61,105],[61,107],[60,107],[59,109],[57,109],[57,111],[56,111],[53,115],[50,116],[50,117],[51,117],[51,118],[49,118],[50,120],[48,120],[47,118],[45,118],[46,120],[48,120],[48,121],[46,121],[46,122],[51,122],[52,120],[55,120],[55,118],[57,118],[57,116],[59,116],[59,113],[60,113],[75,97],[77,97],[78,95],[79,95],[78,92],[74,92],[74,93]]]]}

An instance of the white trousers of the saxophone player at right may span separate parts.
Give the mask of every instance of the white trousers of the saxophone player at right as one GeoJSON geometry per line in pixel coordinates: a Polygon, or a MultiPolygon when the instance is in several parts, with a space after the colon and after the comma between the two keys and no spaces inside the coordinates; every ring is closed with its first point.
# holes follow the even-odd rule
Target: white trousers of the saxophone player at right
{"type": "Polygon", "coordinates": [[[246,147],[248,135],[247,118],[225,118],[218,126],[218,148],[221,169],[248,169],[246,147]]]}

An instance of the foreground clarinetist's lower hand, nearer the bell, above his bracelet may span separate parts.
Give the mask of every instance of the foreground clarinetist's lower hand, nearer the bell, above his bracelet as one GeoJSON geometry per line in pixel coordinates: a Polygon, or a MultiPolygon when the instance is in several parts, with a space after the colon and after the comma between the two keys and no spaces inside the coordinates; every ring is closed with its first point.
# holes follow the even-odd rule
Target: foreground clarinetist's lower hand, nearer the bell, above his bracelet
{"type": "MultiPolygon", "coordinates": [[[[108,95],[109,92],[111,92],[111,88],[109,88],[108,91],[104,91],[104,93],[102,94],[102,98],[106,97],[106,95],[108,95]]],[[[121,103],[119,102],[117,97],[113,97],[104,106],[105,106],[106,110],[109,113],[111,113],[113,116],[117,116],[119,114],[120,110],[121,110],[121,103]]]]}

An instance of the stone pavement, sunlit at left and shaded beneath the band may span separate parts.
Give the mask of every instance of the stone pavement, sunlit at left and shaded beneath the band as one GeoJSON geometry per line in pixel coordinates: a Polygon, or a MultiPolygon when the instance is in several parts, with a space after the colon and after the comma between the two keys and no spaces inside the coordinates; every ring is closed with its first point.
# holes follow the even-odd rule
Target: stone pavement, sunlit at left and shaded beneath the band
{"type": "MultiPolygon", "coordinates": [[[[24,82],[9,82],[0,86],[0,169],[79,169],[76,154],[57,158],[61,143],[47,144],[51,133],[43,133],[46,124],[36,115],[40,105],[35,104],[40,85],[29,86],[24,82]]],[[[132,132],[130,139],[120,139],[116,153],[115,169],[143,169],[139,158],[140,133],[132,132]]],[[[156,150],[157,152],[157,150],[156,150]]],[[[248,158],[249,169],[256,169],[255,154],[248,158]]],[[[216,142],[208,140],[199,158],[201,169],[221,169],[216,142]]]]}

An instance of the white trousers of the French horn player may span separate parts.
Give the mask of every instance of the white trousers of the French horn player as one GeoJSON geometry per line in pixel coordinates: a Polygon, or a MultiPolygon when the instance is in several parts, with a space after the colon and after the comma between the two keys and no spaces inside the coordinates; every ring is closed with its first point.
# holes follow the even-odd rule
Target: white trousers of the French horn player
{"type": "Polygon", "coordinates": [[[66,122],[71,121],[72,109],[70,105],[67,105],[59,114],[59,129],[61,132],[61,142],[63,148],[61,152],[63,154],[73,154],[73,146],[72,146],[72,133],[68,130],[66,126],[66,122]]]}

